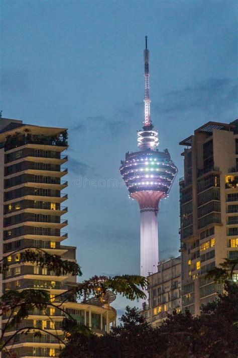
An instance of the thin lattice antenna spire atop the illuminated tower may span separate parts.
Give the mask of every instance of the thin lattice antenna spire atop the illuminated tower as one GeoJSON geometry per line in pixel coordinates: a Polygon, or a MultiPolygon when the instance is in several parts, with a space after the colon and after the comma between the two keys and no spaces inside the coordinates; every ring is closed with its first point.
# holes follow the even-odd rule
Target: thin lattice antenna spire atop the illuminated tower
{"type": "Polygon", "coordinates": [[[149,55],[150,51],[147,49],[147,36],[146,36],[146,48],[144,50],[144,62],[145,62],[145,120],[144,124],[145,126],[152,125],[151,121],[151,108],[150,108],[150,73],[149,73],[149,55]]]}

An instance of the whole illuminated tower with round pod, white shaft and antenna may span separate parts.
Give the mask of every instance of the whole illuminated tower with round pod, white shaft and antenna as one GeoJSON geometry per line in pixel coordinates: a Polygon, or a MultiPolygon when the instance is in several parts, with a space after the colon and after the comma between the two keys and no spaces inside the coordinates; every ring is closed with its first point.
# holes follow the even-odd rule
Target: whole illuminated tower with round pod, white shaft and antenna
{"type": "Polygon", "coordinates": [[[130,197],[136,199],[141,211],[141,275],[156,272],[159,261],[158,220],[159,202],[168,196],[177,168],[166,149],[159,152],[158,131],[150,115],[149,50],[144,50],[145,119],[143,130],[137,132],[139,150],[126,153],[120,172],[130,197]]]}

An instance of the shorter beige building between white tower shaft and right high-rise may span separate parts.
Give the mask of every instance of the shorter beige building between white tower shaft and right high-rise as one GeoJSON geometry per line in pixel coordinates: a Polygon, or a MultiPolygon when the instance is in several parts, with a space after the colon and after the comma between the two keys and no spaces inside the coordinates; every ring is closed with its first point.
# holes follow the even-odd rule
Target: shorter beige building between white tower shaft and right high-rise
{"type": "Polygon", "coordinates": [[[148,278],[148,304],[142,315],[152,327],[159,327],[167,314],[181,311],[181,257],[159,262],[157,272],[148,278]]]}

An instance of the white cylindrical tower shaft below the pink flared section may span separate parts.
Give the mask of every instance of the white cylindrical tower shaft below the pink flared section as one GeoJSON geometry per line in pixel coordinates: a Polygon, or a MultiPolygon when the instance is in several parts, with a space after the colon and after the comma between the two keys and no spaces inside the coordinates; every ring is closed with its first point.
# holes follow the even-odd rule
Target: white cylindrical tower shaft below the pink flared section
{"type": "Polygon", "coordinates": [[[141,209],[141,276],[156,272],[159,261],[157,209],[141,209]]]}

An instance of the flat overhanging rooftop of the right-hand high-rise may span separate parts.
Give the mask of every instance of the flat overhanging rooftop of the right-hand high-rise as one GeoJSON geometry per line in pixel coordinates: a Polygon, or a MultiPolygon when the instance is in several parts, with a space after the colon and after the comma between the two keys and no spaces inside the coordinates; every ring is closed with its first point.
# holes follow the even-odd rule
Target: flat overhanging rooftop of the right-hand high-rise
{"type": "MultiPolygon", "coordinates": [[[[199,132],[206,133],[208,135],[212,135],[212,132],[214,129],[228,130],[228,131],[232,131],[232,132],[236,133],[236,132],[238,132],[238,119],[235,119],[231,123],[220,123],[220,122],[209,121],[209,122],[203,124],[201,127],[195,129],[194,135],[199,132]]],[[[180,146],[191,147],[192,139],[193,139],[194,135],[190,135],[189,137],[181,140],[179,142],[180,146]]]]}

